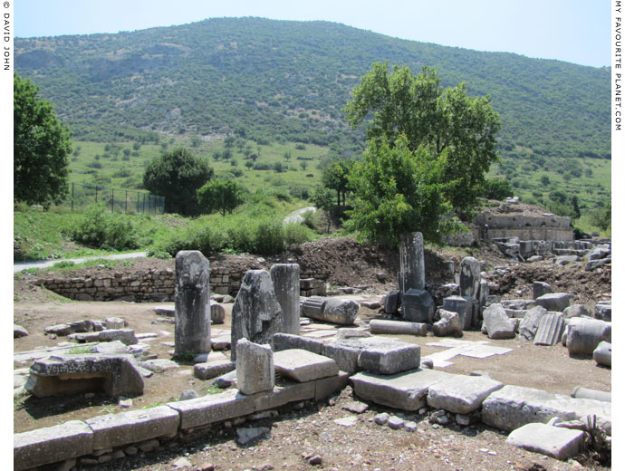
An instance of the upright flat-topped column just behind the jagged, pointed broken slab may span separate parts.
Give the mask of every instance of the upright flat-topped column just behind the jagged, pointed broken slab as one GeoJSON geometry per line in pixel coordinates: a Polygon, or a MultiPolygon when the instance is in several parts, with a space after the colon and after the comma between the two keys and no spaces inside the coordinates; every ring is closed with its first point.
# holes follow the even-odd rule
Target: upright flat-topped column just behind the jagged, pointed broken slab
{"type": "Polygon", "coordinates": [[[300,334],[300,265],[274,264],[269,272],[282,308],[280,332],[300,334]]]}

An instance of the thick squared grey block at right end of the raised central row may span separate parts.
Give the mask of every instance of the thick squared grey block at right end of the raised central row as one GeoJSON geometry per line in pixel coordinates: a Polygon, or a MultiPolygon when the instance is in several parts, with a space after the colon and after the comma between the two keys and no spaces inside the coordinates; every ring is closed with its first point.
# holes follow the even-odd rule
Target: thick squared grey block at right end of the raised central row
{"type": "Polygon", "coordinates": [[[421,347],[412,343],[391,342],[367,347],[358,357],[358,366],[375,374],[395,374],[415,370],[421,362],[421,347]]]}

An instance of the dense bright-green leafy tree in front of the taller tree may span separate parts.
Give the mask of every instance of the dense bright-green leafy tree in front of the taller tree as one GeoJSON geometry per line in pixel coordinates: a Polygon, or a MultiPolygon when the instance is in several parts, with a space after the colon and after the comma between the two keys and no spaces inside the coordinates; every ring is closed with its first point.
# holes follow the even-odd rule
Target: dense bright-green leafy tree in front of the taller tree
{"type": "Polygon", "coordinates": [[[445,154],[432,159],[424,147],[413,151],[403,134],[394,142],[384,136],[371,140],[351,172],[355,198],[348,226],[390,246],[414,231],[438,241],[453,224],[440,217],[450,210],[441,191],[445,154]]]}

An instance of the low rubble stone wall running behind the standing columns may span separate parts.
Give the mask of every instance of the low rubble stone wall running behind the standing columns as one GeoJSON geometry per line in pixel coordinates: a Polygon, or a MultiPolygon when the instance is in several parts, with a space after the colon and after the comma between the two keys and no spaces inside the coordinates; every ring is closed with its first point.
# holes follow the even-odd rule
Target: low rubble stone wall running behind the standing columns
{"type": "MultiPolygon", "coordinates": [[[[246,271],[246,268],[230,271],[226,267],[211,267],[210,293],[236,297],[241,278],[246,271]]],[[[302,295],[324,296],[328,276],[329,274],[301,274],[302,295]]],[[[175,279],[176,274],[171,269],[150,269],[134,274],[113,272],[73,278],[44,278],[34,281],[34,284],[43,284],[50,291],[77,301],[164,303],[174,301],[175,279]]]]}

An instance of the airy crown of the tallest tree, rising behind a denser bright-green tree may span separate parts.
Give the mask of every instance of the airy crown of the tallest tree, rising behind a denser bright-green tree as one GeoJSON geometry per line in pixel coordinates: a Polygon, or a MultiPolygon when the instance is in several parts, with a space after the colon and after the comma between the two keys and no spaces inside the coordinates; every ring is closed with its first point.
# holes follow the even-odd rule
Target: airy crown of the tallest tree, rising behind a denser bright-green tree
{"type": "Polygon", "coordinates": [[[427,149],[431,159],[445,153],[442,190],[458,215],[470,214],[486,171],[498,159],[500,121],[490,97],[467,95],[464,83],[444,89],[429,67],[414,75],[406,66],[390,72],[388,62],[374,63],[344,111],[352,127],[371,117],[369,141],[385,138],[392,147],[404,135],[412,152],[427,149]]]}

